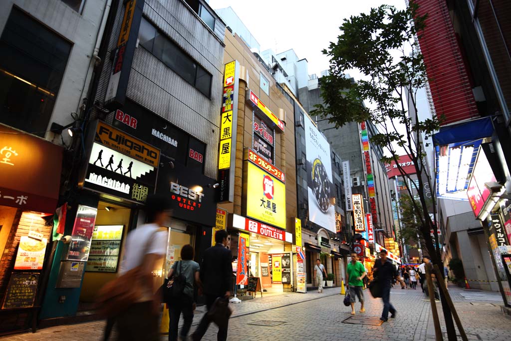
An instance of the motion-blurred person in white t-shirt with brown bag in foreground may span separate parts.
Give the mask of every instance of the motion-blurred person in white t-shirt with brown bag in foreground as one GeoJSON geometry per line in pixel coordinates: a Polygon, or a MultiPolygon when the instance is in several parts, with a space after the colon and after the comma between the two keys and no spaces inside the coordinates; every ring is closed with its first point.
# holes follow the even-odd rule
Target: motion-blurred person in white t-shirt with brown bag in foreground
{"type": "Polygon", "coordinates": [[[142,266],[138,283],[144,290],[140,299],[116,317],[118,340],[159,340],[157,308],[160,298],[152,271],[166,253],[168,231],[160,226],[168,219],[169,207],[166,196],[148,196],[145,207],[148,223],[138,226],[126,238],[120,275],[142,266]]]}

